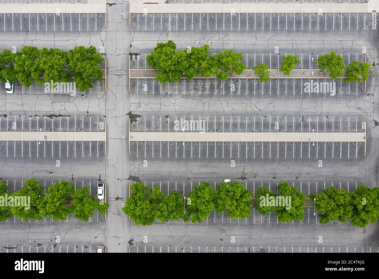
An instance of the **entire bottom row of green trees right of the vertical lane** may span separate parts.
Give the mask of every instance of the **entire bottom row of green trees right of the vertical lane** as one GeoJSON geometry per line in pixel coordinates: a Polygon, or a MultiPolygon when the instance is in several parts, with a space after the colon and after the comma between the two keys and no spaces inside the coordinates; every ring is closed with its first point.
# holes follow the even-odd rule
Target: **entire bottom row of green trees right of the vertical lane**
{"type": "MultiPolygon", "coordinates": [[[[136,225],[151,225],[155,220],[168,222],[183,219],[193,223],[208,218],[214,210],[217,214],[226,213],[228,218],[248,218],[251,216],[251,190],[246,190],[238,181],[219,183],[218,188],[208,182],[202,182],[183,197],[177,191],[163,196],[158,187],[150,189],[142,183],[131,186],[131,194],[122,210],[136,225]]],[[[290,186],[287,182],[278,184],[277,193],[269,188],[258,187],[255,193],[256,201],[252,207],[262,215],[276,212],[278,222],[301,221],[304,219],[305,194],[290,186]],[[290,197],[290,206],[276,204],[277,197],[290,197]],[[261,197],[267,197],[262,200],[261,197]],[[270,201],[270,203],[269,203],[270,201]],[[273,201],[273,203],[271,203],[273,201]]],[[[315,209],[320,212],[320,224],[330,221],[345,222],[352,219],[352,225],[365,227],[368,222],[375,224],[379,219],[379,188],[368,188],[364,185],[357,187],[355,192],[346,192],[334,186],[323,189],[320,194],[310,194],[315,209]]]]}

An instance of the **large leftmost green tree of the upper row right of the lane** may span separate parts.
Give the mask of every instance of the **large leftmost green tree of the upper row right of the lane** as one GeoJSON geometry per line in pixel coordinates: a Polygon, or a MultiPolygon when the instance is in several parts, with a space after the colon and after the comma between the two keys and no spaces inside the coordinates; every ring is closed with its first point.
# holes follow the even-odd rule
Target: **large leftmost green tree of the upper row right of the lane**
{"type": "Polygon", "coordinates": [[[183,74],[182,65],[187,58],[187,52],[175,50],[176,44],[169,40],[166,43],[157,43],[154,51],[146,57],[147,63],[157,71],[157,80],[166,82],[179,81],[183,74]]]}

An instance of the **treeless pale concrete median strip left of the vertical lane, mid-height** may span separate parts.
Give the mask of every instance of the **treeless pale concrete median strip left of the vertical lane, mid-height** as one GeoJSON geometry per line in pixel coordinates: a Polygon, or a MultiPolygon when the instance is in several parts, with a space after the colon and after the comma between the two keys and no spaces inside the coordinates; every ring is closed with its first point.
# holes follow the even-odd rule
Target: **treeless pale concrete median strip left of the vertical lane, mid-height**
{"type": "Polygon", "coordinates": [[[47,141],[83,141],[83,142],[104,142],[105,132],[21,132],[21,131],[8,131],[0,132],[0,141],[16,140],[16,141],[29,141],[29,140],[47,140],[47,141]],[[46,136],[46,137],[45,137],[46,136]]]}

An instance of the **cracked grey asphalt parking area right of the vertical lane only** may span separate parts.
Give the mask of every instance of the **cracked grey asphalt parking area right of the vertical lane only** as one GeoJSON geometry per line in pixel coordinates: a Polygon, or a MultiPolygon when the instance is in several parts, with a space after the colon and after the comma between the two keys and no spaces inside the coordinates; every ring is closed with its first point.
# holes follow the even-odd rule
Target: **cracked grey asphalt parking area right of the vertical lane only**
{"type": "MultiPolygon", "coordinates": [[[[255,63],[262,62],[262,54],[263,61],[271,63],[269,55],[271,53],[272,68],[278,66],[277,58],[274,56],[276,46],[279,49],[279,55],[295,53],[300,57],[303,54],[303,66],[299,66],[303,69],[309,69],[309,57],[316,59],[317,55],[330,52],[330,50],[343,54],[345,58],[350,54],[351,60],[358,56],[358,60],[361,61],[364,59],[362,46],[365,46],[367,61],[373,65],[372,69],[377,73],[377,30],[372,30],[371,26],[368,27],[369,25],[364,27],[363,24],[359,24],[357,30],[356,28],[346,30],[346,25],[343,25],[345,30],[341,30],[340,25],[337,27],[340,17],[336,20],[336,28],[333,29],[329,21],[332,18],[330,14],[327,15],[329,21],[327,30],[325,30],[325,25],[318,30],[309,30],[309,14],[304,14],[306,18],[304,26],[307,25],[303,29],[301,29],[302,15],[296,14],[296,30],[293,30],[293,25],[286,30],[282,22],[279,28],[275,25],[270,30],[267,28],[270,26],[270,17],[267,14],[263,17],[263,24],[260,15],[259,28],[255,29],[254,25],[251,28],[249,25],[249,30],[246,26],[238,29],[238,25],[234,22],[231,28],[229,15],[229,23],[225,20],[225,24],[229,25],[224,28],[218,27],[223,29],[219,31],[215,31],[214,14],[212,25],[208,27],[209,30],[204,31],[203,28],[207,29],[206,14],[205,17],[202,14],[201,27],[198,14],[197,21],[193,20],[193,27],[189,27],[191,19],[186,19],[187,27],[183,26],[183,20],[179,20],[176,27],[175,14],[171,16],[171,27],[168,27],[168,15],[163,14],[163,30],[160,30],[159,16],[155,16],[159,20],[155,19],[155,31],[153,31],[151,15],[148,14],[146,17],[148,20],[146,20],[145,30],[145,16],[138,19],[137,28],[136,15],[132,14],[130,53],[133,54],[131,59],[133,68],[144,68],[145,54],[148,55],[157,42],[172,39],[177,44],[177,49],[209,44],[210,51],[214,53],[233,48],[245,54],[245,57],[247,54],[249,67],[254,65],[254,54],[257,54],[255,63]],[[265,26],[263,30],[262,25],[265,26]]],[[[285,19],[283,14],[279,16],[280,20],[285,19]]],[[[348,18],[347,16],[347,14],[343,15],[344,21],[348,18]]],[[[358,18],[358,22],[364,18],[362,14],[354,16],[354,20],[358,18]]],[[[312,29],[317,26],[315,18],[311,15],[312,29]]],[[[252,19],[254,20],[254,17],[252,19]]],[[[367,14],[366,24],[369,24],[368,19],[367,14]]],[[[220,26],[220,19],[217,20],[220,26]]],[[[254,24],[251,20],[249,22],[249,24],[254,24]]],[[[288,23],[291,24],[290,20],[288,23]]],[[[348,63],[346,60],[348,59],[345,59],[345,63],[348,63]]],[[[313,68],[316,67],[313,66],[313,68]]],[[[238,127],[245,127],[244,119],[247,118],[249,119],[247,130],[262,131],[261,119],[265,131],[269,130],[270,125],[271,129],[274,129],[276,119],[280,119],[280,127],[283,130],[286,117],[288,127],[291,127],[287,127],[289,131],[293,129],[292,125],[295,130],[308,131],[316,127],[324,130],[324,117],[327,117],[328,121],[325,129],[334,129],[335,132],[345,129],[352,131],[354,127],[355,131],[358,126],[355,122],[359,122],[360,125],[365,118],[368,141],[366,156],[364,156],[363,145],[354,144],[353,147],[340,143],[335,143],[333,146],[330,143],[330,146],[326,145],[326,147],[320,144],[317,147],[318,154],[316,154],[316,146],[313,147],[312,144],[300,146],[297,143],[296,145],[288,143],[287,146],[284,143],[277,145],[276,142],[272,145],[266,143],[263,146],[261,143],[253,146],[251,143],[246,151],[245,143],[240,145],[202,143],[200,147],[199,143],[186,143],[183,147],[182,143],[175,145],[175,143],[168,144],[167,142],[133,142],[130,153],[130,172],[133,181],[142,182],[150,187],[159,186],[164,193],[177,189],[183,195],[188,194],[193,186],[201,181],[210,181],[211,185],[216,185],[225,178],[239,180],[246,185],[246,189],[252,189],[253,192],[258,186],[270,187],[272,191],[275,191],[277,183],[282,181],[288,181],[305,194],[320,192],[324,187],[331,185],[344,188],[346,191],[354,191],[356,185],[360,184],[377,185],[378,115],[377,96],[374,95],[376,76],[369,77],[366,93],[363,84],[360,84],[358,88],[355,84],[344,84],[342,88],[339,87],[336,96],[316,93],[301,95],[304,83],[296,83],[289,87],[288,92],[291,93],[295,87],[295,95],[285,95],[283,84],[279,85],[277,82],[273,83],[273,88],[265,84],[262,87],[263,94],[260,86],[257,86],[260,91],[257,91],[256,95],[254,95],[252,84],[249,85],[247,94],[238,94],[236,90],[231,92],[230,82],[226,82],[224,85],[218,84],[217,90],[215,88],[210,95],[207,95],[205,93],[207,85],[202,81],[202,87],[199,88],[198,80],[193,84],[186,83],[184,89],[178,82],[178,84],[170,85],[169,89],[167,85],[163,85],[162,90],[155,80],[154,91],[151,88],[153,85],[151,79],[147,79],[147,91],[141,89],[144,88],[144,80],[139,79],[138,82],[138,94],[135,93],[137,91],[135,80],[132,80],[132,92],[130,92],[130,110],[135,116],[132,121],[133,131],[137,129],[139,131],[145,129],[146,131],[160,131],[160,129],[172,131],[173,121],[181,117],[187,120],[200,117],[208,121],[207,129],[210,132],[222,132],[222,129],[230,131],[230,117],[232,117],[232,131],[238,131],[238,127]],[[178,88],[180,88],[179,91],[178,88]],[[269,95],[270,91],[271,95],[269,95]],[[152,95],[153,92],[154,95],[152,95]],[[192,92],[194,93],[191,94],[192,92]],[[216,123],[213,120],[215,117],[216,123]],[[223,125],[222,118],[224,118],[223,125]],[[254,118],[257,122],[253,126],[254,118]],[[269,118],[271,124],[267,123],[269,118]],[[293,118],[296,119],[296,124],[292,124],[293,118]],[[319,126],[316,124],[317,118],[319,126]],[[354,123],[348,124],[348,119],[354,123]],[[332,122],[334,122],[333,128],[332,122]],[[147,167],[144,167],[144,160],[147,162],[147,167]],[[235,167],[232,167],[231,160],[234,160],[235,167]],[[323,167],[319,167],[319,160],[323,161],[323,167]]],[[[241,86],[241,92],[245,92],[246,84],[241,86]]],[[[212,83],[209,88],[211,87],[215,87],[215,84],[212,83]]],[[[358,127],[357,130],[360,128],[358,127]]],[[[246,128],[242,128],[243,131],[244,129],[246,128]]],[[[289,224],[277,224],[273,214],[261,216],[255,211],[251,218],[245,220],[230,220],[212,213],[202,224],[190,222],[183,224],[179,220],[170,221],[168,224],[156,222],[149,227],[135,227],[131,224],[130,237],[133,240],[132,252],[244,252],[245,249],[247,252],[268,252],[269,249],[279,252],[335,252],[348,249],[352,252],[355,251],[354,248],[358,249],[357,251],[362,251],[363,248],[363,251],[368,252],[370,247],[377,247],[379,243],[376,236],[377,230],[377,224],[369,224],[365,229],[354,227],[349,222],[345,224],[333,222],[321,226],[313,216],[313,210],[306,209],[302,222],[289,224]],[[231,236],[235,236],[235,243],[231,242],[231,236]],[[318,243],[319,236],[323,236],[323,243],[318,243]],[[146,237],[147,243],[143,241],[146,237]]]]}

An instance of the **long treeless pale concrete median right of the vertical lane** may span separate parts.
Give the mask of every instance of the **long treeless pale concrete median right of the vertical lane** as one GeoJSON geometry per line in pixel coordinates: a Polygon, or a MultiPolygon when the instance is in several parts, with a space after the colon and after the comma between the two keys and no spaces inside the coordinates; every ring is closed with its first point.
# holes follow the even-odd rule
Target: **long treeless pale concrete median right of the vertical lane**
{"type": "Polygon", "coordinates": [[[130,132],[130,141],[157,142],[365,142],[365,132],[130,132]]]}

